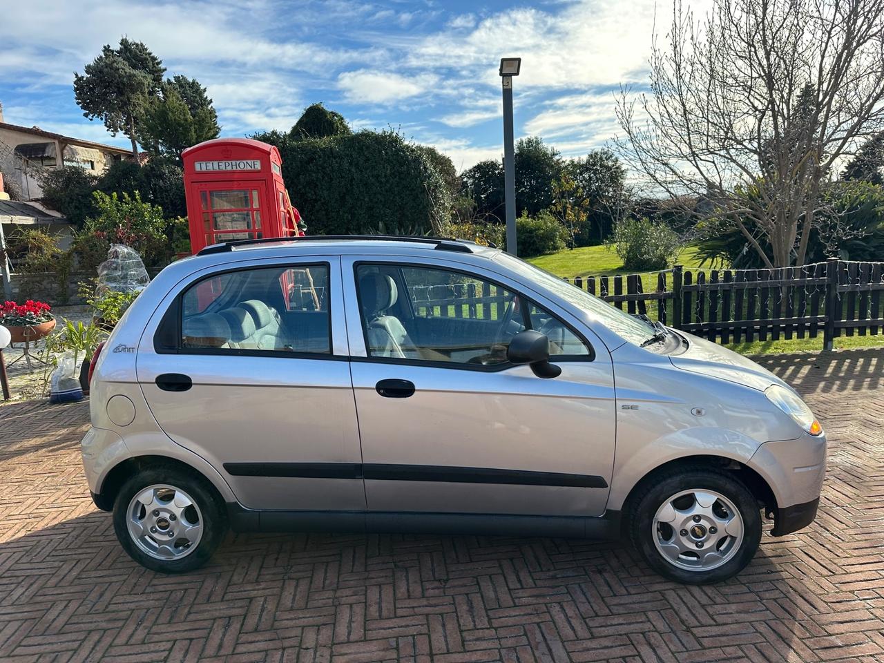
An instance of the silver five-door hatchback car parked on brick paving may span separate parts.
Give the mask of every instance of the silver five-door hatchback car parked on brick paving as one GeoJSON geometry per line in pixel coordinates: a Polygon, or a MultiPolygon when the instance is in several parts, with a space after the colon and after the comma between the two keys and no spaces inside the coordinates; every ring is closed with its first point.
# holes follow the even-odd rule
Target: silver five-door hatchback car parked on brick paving
{"type": "Polygon", "coordinates": [[[497,249],[205,248],[95,365],[95,504],[164,572],[237,531],[628,536],[682,583],[739,572],[763,509],[812,522],[826,438],[789,385],[497,249]]]}

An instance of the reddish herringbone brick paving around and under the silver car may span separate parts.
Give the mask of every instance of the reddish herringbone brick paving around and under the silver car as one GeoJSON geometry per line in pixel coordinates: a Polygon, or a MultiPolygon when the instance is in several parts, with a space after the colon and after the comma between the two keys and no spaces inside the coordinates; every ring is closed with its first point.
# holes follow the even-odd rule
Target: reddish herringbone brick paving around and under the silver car
{"type": "Polygon", "coordinates": [[[157,575],[88,497],[87,406],[5,406],[0,660],[884,661],[884,352],[766,362],[827,428],[819,519],[704,588],[548,538],[232,536],[157,575]]]}

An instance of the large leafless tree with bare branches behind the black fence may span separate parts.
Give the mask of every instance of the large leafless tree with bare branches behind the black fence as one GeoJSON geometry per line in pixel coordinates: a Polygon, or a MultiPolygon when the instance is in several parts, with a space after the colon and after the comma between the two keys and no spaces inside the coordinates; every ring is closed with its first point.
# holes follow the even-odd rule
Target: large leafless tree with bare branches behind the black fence
{"type": "Polygon", "coordinates": [[[713,0],[702,21],[674,0],[650,83],[618,103],[627,163],[766,266],[804,264],[821,187],[884,126],[884,0],[713,0]]]}

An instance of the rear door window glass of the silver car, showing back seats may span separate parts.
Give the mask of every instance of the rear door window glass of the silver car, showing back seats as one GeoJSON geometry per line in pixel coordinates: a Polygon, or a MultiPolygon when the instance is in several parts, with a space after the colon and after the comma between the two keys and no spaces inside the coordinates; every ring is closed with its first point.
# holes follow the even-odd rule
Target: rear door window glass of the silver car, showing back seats
{"type": "Polygon", "coordinates": [[[181,297],[180,350],[331,353],[327,264],[203,278],[181,297]]]}

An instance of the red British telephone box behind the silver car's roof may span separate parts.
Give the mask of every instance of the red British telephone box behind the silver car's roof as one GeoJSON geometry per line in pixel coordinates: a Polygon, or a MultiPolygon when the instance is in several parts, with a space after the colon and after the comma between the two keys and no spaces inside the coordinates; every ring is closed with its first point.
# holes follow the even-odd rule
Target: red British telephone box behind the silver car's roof
{"type": "Polygon", "coordinates": [[[187,148],[182,157],[194,254],[225,241],[304,234],[274,146],[250,138],[217,138],[187,148]]]}

